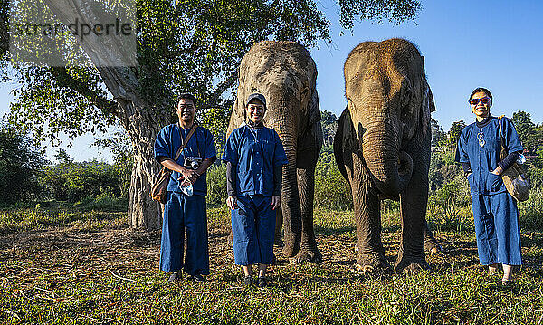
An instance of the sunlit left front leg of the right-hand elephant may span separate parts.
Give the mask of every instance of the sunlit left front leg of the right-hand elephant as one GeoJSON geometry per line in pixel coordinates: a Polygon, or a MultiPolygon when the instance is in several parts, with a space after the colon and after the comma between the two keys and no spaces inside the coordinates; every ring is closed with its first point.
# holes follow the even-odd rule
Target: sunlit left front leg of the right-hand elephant
{"type": "Polygon", "coordinates": [[[357,224],[357,263],[354,268],[361,272],[392,272],[386,261],[381,242],[381,201],[369,173],[357,154],[352,155],[353,172],[349,180],[353,194],[355,222],[357,224]]]}

